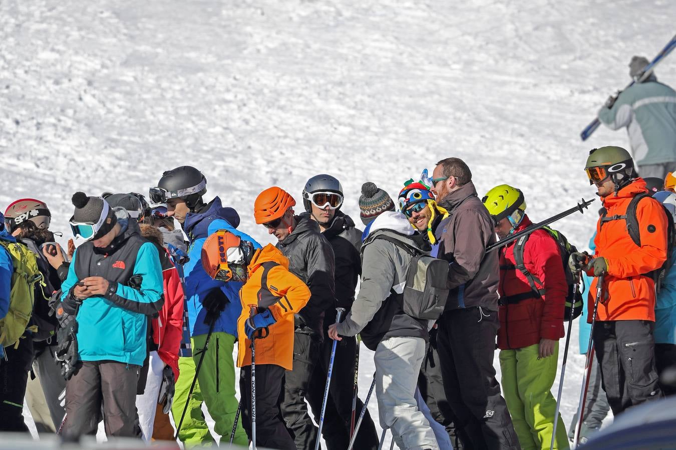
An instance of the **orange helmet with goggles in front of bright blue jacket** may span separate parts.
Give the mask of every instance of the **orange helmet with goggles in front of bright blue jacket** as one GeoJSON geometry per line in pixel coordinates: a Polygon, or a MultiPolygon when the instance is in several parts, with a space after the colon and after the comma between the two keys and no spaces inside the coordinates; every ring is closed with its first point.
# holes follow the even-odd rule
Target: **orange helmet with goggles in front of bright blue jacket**
{"type": "Polygon", "coordinates": [[[215,280],[245,282],[247,266],[255,251],[251,242],[220,229],[212,233],[202,246],[202,266],[215,280]]]}

